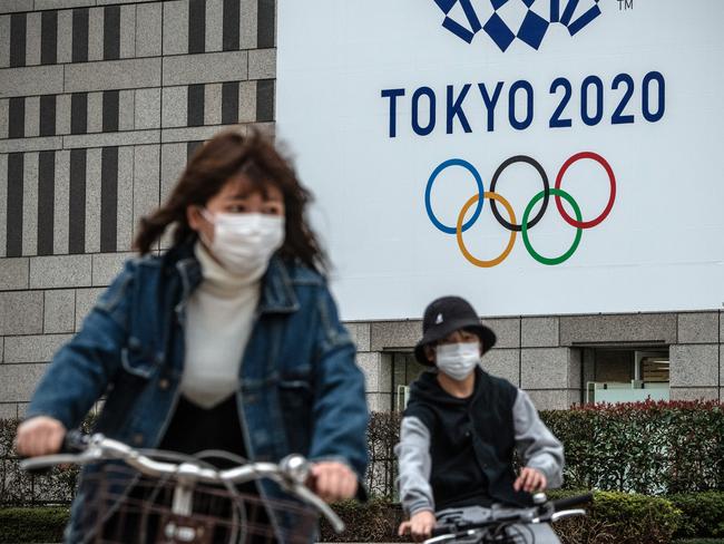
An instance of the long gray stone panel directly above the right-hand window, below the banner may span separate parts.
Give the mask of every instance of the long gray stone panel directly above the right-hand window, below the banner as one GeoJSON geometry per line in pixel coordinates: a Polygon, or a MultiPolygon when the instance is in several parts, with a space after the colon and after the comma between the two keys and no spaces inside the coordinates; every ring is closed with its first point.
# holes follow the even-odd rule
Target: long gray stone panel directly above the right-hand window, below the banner
{"type": "Polygon", "coordinates": [[[636,313],[560,318],[561,346],[617,342],[676,343],[676,314],[636,313]]]}

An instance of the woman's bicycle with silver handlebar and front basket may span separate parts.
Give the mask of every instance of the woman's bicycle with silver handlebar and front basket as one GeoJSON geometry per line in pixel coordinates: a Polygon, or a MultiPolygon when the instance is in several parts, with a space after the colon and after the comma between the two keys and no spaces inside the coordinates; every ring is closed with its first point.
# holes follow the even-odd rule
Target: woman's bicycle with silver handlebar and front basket
{"type": "Polygon", "coordinates": [[[21,467],[87,466],[79,487],[86,501],[74,521],[82,542],[307,543],[314,536],[319,513],[334,531],[344,531],[332,508],[305,486],[310,464],[300,455],[285,457],[278,465],[244,463],[222,451],[192,457],[136,450],[100,434],[78,431],[67,434],[63,451],[75,453],[28,458],[21,467]],[[206,457],[223,458],[234,466],[218,469],[205,462],[206,457]],[[276,482],[294,498],[260,497],[253,484],[260,478],[276,482]],[[274,531],[270,512],[293,530],[283,532],[277,526],[274,531]]]}

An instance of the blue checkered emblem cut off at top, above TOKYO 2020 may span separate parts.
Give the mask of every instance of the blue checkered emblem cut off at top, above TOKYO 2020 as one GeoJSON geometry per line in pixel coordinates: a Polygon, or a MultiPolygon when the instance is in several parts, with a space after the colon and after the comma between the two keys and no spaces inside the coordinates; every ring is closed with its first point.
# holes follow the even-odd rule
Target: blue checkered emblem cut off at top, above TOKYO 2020
{"type": "Polygon", "coordinates": [[[551,25],[562,25],[570,36],[600,14],[599,0],[434,0],[444,13],[442,27],[470,43],[486,32],[501,51],[516,39],[538,49],[551,25]],[[482,7],[489,3],[482,25],[482,7]],[[490,9],[491,8],[491,9],[490,9]],[[491,11],[491,12],[490,12],[491,11]]]}

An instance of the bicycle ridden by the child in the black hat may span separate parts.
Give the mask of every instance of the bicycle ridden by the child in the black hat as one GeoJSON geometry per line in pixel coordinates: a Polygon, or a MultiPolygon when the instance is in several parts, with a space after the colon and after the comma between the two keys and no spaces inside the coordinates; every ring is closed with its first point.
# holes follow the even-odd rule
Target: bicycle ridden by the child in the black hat
{"type": "Polygon", "coordinates": [[[534,495],[536,506],[530,508],[480,508],[485,514],[476,519],[446,516],[424,544],[535,544],[536,534],[531,525],[586,515],[581,508],[569,508],[591,501],[590,493],[558,501],[548,501],[544,493],[537,493],[534,495]]]}

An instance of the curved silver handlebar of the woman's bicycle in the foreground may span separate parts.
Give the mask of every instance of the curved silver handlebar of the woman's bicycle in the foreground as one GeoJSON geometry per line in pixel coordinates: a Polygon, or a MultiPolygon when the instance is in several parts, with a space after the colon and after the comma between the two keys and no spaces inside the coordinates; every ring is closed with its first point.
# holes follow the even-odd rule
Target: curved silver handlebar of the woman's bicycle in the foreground
{"type": "Polygon", "coordinates": [[[344,531],[344,522],[330,506],[306,487],[309,462],[301,455],[290,455],[280,464],[250,463],[225,470],[217,470],[200,466],[192,460],[180,464],[154,460],[130,446],[106,438],[101,434],[82,435],[78,431],[66,434],[61,451],[56,455],[32,457],[20,462],[23,470],[38,470],[55,465],[74,464],[86,465],[100,460],[123,460],[139,473],[150,477],[176,476],[179,480],[188,483],[202,482],[205,484],[244,484],[258,478],[270,478],[282,488],[303,502],[311,504],[326,517],[336,533],[344,531]]]}

